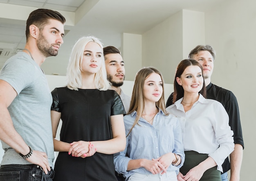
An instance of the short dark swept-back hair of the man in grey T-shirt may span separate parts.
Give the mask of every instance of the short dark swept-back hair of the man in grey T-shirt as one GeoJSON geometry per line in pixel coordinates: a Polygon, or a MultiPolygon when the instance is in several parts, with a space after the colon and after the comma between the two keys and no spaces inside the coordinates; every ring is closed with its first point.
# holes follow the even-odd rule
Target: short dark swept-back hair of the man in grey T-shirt
{"type": "Polygon", "coordinates": [[[26,37],[29,37],[29,26],[34,24],[39,28],[39,30],[43,29],[43,27],[49,22],[49,19],[54,19],[60,21],[62,24],[65,24],[66,20],[61,13],[58,11],[53,11],[50,9],[36,9],[29,14],[27,18],[26,24],[26,37]]]}

